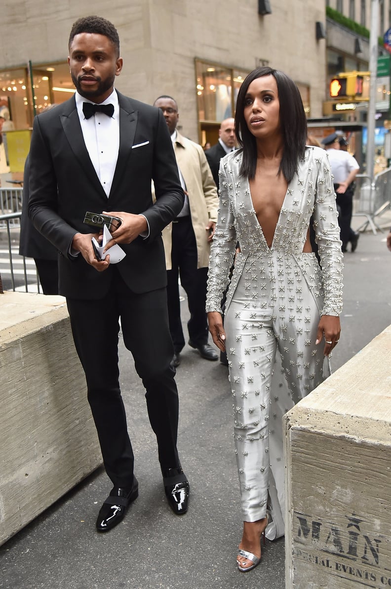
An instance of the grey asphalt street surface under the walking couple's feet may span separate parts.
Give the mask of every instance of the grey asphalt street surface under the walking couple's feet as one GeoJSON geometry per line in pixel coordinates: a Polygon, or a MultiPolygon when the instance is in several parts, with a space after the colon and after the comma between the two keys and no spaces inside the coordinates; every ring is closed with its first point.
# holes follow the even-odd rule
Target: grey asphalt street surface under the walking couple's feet
{"type": "MultiPolygon", "coordinates": [[[[362,234],[357,251],[344,257],[342,337],[334,369],[391,323],[385,235],[362,234]]],[[[186,307],[184,300],[184,322],[186,307]]],[[[283,539],[266,542],[254,571],[236,568],[242,522],[227,368],[188,346],[183,351],[178,448],[191,500],[188,513],[175,517],[164,497],[143,387],[122,342],[120,367],[140,496],[117,528],[97,534],[95,519],[110,489],[99,469],[0,548],[0,588],[283,589],[283,539]]]]}

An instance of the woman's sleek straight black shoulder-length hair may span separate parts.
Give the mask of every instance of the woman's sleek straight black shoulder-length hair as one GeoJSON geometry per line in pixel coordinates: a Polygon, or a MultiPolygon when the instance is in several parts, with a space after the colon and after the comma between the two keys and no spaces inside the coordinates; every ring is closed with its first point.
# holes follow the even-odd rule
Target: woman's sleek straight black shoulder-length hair
{"type": "Polygon", "coordinates": [[[254,178],[257,166],[256,138],[251,134],[244,120],[246,94],[251,82],[262,76],[272,75],[277,83],[280,101],[280,125],[284,151],[279,173],[289,183],[297,171],[299,159],[304,157],[307,141],[307,119],[299,89],[286,74],[273,68],[262,67],[250,72],[238,92],[235,115],[237,141],[243,147],[240,175],[254,178]]]}

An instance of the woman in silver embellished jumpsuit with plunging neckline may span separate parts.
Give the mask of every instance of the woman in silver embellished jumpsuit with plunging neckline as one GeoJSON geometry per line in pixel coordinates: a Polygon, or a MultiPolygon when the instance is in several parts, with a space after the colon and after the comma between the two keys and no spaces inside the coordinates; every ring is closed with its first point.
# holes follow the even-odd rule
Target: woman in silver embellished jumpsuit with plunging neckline
{"type": "Polygon", "coordinates": [[[342,252],[329,161],[306,147],[294,82],[271,68],[251,72],[235,124],[242,149],[220,164],[207,312],[214,343],[227,351],[244,520],[237,566],[246,572],[259,564],[263,532],[270,540],[284,534],[281,417],[329,375],[342,252]],[[320,266],[309,241],[312,214],[320,266]],[[223,327],[221,295],[237,242],[223,327]]]}

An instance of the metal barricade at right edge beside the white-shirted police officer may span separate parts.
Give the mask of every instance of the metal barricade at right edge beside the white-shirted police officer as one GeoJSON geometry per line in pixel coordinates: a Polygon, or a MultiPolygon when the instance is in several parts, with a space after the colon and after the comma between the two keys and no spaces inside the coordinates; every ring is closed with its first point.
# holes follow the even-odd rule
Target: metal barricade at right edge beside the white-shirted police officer
{"type": "Polygon", "coordinates": [[[366,218],[357,231],[365,231],[369,226],[376,235],[377,230],[383,231],[376,218],[390,206],[391,168],[376,174],[373,181],[366,174],[357,174],[355,183],[353,217],[366,218]]]}

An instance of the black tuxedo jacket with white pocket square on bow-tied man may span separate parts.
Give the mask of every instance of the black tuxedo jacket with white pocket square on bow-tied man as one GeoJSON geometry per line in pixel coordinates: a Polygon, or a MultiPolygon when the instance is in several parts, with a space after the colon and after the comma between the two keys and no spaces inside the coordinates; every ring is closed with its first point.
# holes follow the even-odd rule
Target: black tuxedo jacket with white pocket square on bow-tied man
{"type": "Polygon", "coordinates": [[[29,216],[57,249],[59,293],[75,299],[100,299],[115,272],[97,272],[79,255],[69,256],[75,233],[93,233],[86,211],[142,213],[150,235],[121,244],[126,256],[118,264],[135,293],[164,287],[167,281],[161,231],[183,206],[173,144],[160,109],[117,92],[120,147],[107,198],[82,136],[75,97],[34,119],[30,149],[29,216]],[[151,193],[154,181],[155,202],[151,193]]]}

